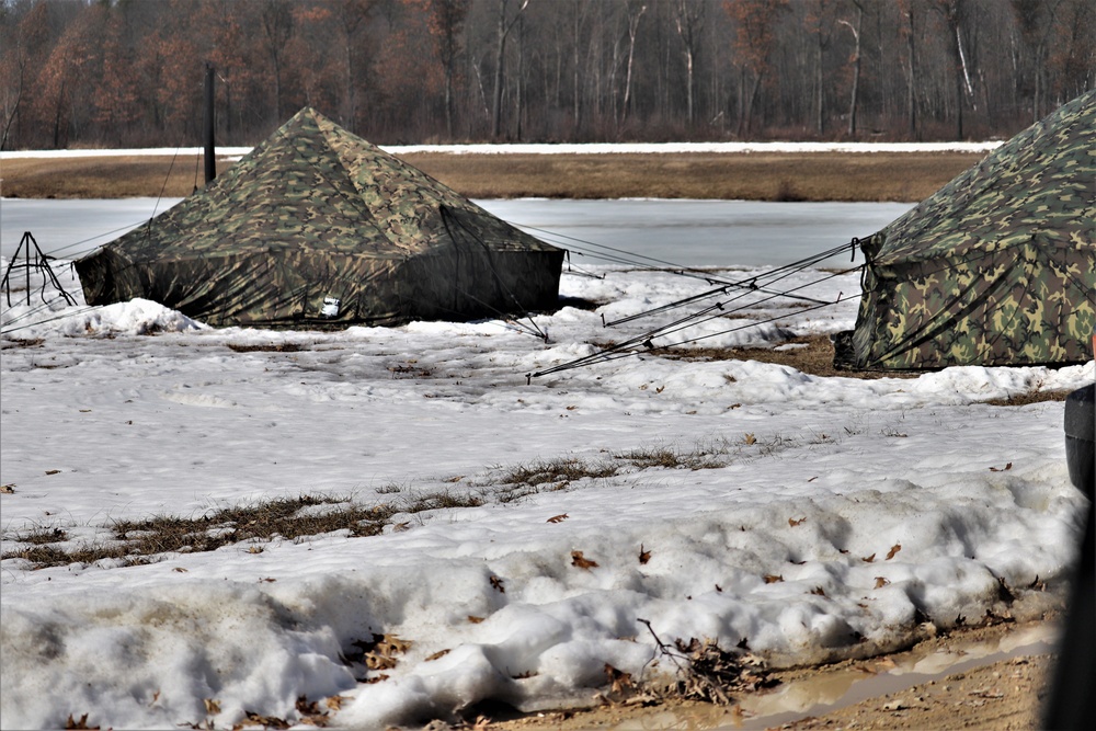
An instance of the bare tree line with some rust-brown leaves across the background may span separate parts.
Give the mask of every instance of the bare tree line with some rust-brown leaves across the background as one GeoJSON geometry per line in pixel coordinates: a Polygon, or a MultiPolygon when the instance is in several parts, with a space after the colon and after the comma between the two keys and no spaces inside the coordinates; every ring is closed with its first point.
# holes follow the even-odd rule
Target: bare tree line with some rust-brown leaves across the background
{"type": "Polygon", "coordinates": [[[0,0],[0,149],[1008,137],[1096,85],[1093,0],[0,0]]]}

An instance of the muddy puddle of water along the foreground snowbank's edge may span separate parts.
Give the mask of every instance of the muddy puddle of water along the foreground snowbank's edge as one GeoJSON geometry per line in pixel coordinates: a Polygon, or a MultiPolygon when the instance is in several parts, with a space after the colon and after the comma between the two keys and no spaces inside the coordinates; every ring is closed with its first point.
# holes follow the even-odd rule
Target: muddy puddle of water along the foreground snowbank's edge
{"type": "Polygon", "coordinates": [[[952,644],[943,650],[911,650],[887,660],[866,660],[840,672],[826,672],[779,686],[768,694],[742,698],[743,718],[727,708],[698,707],[684,711],[663,710],[631,719],[616,731],[706,729],[709,731],[758,731],[821,716],[861,700],[899,693],[954,673],[991,665],[1021,655],[1054,652],[1059,628],[1039,623],[1004,637],[952,644]]]}

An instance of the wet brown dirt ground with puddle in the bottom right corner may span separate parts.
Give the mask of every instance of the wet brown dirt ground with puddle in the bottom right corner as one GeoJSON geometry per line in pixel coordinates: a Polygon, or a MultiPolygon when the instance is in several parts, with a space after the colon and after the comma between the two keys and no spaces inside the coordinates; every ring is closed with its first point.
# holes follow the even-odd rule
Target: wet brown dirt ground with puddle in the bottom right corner
{"type": "Polygon", "coordinates": [[[504,721],[488,722],[484,717],[479,728],[1039,729],[1053,672],[1054,632],[1054,623],[1046,620],[955,631],[905,652],[774,673],[778,685],[739,695],[731,706],[684,700],[651,706],[618,703],[504,721]],[[926,673],[926,667],[943,669],[926,673]]]}

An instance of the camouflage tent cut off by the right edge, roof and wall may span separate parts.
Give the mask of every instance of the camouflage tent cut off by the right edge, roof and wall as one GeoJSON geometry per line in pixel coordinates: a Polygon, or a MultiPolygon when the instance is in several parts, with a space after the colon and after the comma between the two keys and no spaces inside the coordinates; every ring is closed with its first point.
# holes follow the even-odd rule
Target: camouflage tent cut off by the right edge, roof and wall
{"type": "Polygon", "coordinates": [[[1096,327],[1096,91],[860,242],[857,369],[1085,362],[1096,327]]]}

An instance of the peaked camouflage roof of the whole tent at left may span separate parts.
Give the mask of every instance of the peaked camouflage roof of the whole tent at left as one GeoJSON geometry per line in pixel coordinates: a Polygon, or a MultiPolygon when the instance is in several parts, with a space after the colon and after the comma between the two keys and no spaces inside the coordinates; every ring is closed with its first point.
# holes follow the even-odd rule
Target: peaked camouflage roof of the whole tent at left
{"type": "Polygon", "coordinates": [[[495,251],[553,249],[306,107],[228,172],[110,245],[132,261],[295,249],[404,259],[450,241],[452,226],[473,229],[495,251]]]}

